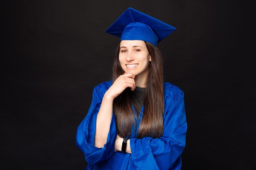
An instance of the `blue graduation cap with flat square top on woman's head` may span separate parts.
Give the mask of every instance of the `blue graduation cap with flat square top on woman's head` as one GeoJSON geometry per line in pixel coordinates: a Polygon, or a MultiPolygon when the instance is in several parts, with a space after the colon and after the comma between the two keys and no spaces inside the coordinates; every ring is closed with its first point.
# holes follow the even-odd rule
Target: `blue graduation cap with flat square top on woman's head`
{"type": "Polygon", "coordinates": [[[142,40],[155,46],[176,28],[145,13],[128,8],[105,31],[121,40],[142,40]]]}

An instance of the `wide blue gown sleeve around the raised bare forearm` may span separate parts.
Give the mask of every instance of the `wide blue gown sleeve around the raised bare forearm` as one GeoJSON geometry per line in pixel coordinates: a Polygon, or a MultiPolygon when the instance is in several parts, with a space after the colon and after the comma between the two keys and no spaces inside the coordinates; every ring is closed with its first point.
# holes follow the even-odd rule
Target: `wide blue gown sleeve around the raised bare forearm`
{"type": "Polygon", "coordinates": [[[115,139],[117,136],[115,115],[112,113],[112,120],[110,123],[110,131],[104,148],[94,146],[94,136],[96,131],[96,119],[101,101],[103,99],[101,88],[94,87],[92,94],[92,104],[89,108],[87,116],[78,126],[76,131],[76,146],[84,153],[85,160],[91,166],[99,161],[109,159],[115,150],[115,139]]]}

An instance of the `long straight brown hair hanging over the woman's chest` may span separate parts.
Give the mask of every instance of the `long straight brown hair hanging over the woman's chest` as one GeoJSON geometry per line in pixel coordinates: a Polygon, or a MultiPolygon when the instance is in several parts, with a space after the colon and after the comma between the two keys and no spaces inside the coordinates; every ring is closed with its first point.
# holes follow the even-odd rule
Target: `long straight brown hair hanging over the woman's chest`
{"type": "MultiPolygon", "coordinates": [[[[137,138],[162,136],[164,131],[164,87],[163,87],[163,59],[160,50],[151,43],[144,41],[151,56],[151,62],[148,65],[148,76],[146,80],[146,90],[144,93],[144,111],[137,138]]],[[[114,64],[112,68],[112,83],[121,75],[124,70],[119,62],[120,43],[115,52],[114,64]]],[[[132,126],[135,126],[136,115],[132,111],[132,104],[139,114],[138,106],[132,100],[132,91],[126,88],[113,103],[115,112],[117,134],[120,137],[130,136],[132,126]]]]}

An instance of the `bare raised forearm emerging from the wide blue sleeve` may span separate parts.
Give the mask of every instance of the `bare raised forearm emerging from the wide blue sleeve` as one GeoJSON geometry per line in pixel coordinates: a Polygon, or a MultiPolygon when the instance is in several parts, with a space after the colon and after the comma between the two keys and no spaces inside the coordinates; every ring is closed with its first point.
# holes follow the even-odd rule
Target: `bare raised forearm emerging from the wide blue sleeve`
{"type": "Polygon", "coordinates": [[[108,132],[110,129],[110,123],[112,119],[113,110],[113,99],[108,97],[107,94],[104,95],[101,107],[97,114],[96,121],[96,132],[94,139],[94,146],[98,148],[103,148],[104,144],[107,142],[108,132]]]}

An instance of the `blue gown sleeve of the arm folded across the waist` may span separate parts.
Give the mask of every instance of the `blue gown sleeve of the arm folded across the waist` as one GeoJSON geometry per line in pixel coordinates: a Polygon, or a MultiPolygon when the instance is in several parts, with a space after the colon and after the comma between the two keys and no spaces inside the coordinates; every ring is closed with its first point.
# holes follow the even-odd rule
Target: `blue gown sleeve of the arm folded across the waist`
{"type": "Polygon", "coordinates": [[[180,169],[187,129],[184,94],[180,90],[172,99],[165,100],[163,135],[156,139],[130,139],[132,160],[137,170],[180,169]]]}

